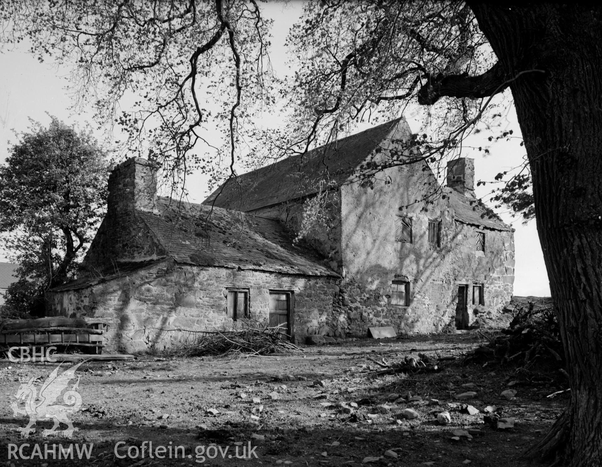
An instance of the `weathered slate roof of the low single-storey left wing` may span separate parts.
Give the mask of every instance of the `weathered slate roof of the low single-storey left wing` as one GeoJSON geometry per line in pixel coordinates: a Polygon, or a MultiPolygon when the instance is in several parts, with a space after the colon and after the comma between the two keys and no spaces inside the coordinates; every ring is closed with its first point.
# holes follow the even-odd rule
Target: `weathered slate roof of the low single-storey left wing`
{"type": "Polygon", "coordinates": [[[137,212],[167,255],[178,263],[338,276],[324,259],[274,219],[159,197],[160,214],[137,212]],[[211,212],[211,216],[209,216],[211,212]],[[205,220],[209,216],[208,227],[205,220]]]}

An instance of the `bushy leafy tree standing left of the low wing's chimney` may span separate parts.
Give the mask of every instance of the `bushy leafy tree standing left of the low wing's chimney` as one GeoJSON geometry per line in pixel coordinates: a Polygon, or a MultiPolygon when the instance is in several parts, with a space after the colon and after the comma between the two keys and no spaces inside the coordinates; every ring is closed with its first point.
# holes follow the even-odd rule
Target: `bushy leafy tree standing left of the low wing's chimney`
{"type": "Polygon", "coordinates": [[[19,263],[6,306],[40,313],[43,293],[73,277],[105,212],[109,164],[90,132],[33,122],[0,166],[0,232],[19,263]]]}

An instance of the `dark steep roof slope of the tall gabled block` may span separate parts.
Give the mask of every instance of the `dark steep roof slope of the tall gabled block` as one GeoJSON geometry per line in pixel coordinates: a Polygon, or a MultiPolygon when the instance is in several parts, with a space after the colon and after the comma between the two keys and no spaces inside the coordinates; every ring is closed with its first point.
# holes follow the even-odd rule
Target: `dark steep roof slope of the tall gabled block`
{"type": "Polygon", "coordinates": [[[213,203],[223,188],[214,206],[247,212],[317,193],[321,180],[340,185],[394,132],[409,136],[403,117],[230,179],[203,204],[213,203]]]}

